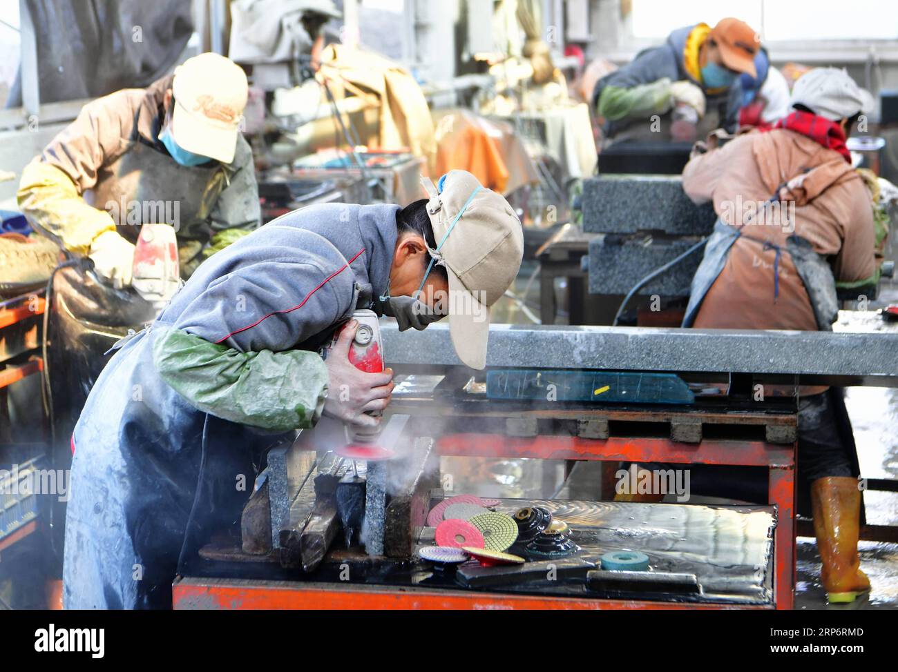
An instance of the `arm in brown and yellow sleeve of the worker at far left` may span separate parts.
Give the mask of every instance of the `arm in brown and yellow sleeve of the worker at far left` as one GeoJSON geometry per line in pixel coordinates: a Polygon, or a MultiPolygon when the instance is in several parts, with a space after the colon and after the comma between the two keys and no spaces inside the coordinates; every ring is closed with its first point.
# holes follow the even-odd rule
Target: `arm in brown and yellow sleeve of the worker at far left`
{"type": "Polygon", "coordinates": [[[22,170],[18,202],[36,228],[77,254],[90,253],[104,231],[115,231],[105,210],[82,195],[97,183],[101,166],[119,156],[133,117],[127,92],[93,100],[22,170]],[[123,135],[124,134],[124,135],[123,135]]]}

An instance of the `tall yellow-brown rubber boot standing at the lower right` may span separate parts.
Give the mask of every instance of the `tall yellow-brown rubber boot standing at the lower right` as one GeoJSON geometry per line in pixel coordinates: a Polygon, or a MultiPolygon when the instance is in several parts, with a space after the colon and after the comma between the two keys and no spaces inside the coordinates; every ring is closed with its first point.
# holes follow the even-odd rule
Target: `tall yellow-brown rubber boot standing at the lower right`
{"type": "Polygon", "coordinates": [[[820,579],[826,599],[852,602],[870,589],[867,574],[860,571],[860,491],[858,479],[847,476],[818,478],[811,484],[814,533],[823,561],[820,579]]]}

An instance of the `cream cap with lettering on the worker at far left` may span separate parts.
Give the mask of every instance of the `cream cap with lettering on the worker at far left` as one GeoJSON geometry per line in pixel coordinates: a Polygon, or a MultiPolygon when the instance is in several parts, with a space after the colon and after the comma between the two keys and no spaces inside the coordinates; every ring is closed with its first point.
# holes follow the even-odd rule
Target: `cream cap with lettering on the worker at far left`
{"type": "Polygon", "coordinates": [[[188,58],[174,71],[174,141],[188,152],[230,163],[249,86],[239,65],[218,54],[188,58]]]}

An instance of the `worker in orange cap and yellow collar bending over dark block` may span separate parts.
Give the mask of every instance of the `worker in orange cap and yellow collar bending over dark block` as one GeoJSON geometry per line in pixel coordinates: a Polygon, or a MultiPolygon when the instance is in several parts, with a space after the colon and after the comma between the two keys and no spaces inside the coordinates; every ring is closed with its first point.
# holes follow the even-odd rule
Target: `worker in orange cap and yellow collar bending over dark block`
{"type": "MultiPolygon", "coordinates": [[[[757,76],[760,39],[738,19],[670,34],[595,84],[593,105],[608,140],[694,140],[724,125],[730,88],[757,76]]],[[[735,129],[729,129],[735,130],[735,129]]]]}

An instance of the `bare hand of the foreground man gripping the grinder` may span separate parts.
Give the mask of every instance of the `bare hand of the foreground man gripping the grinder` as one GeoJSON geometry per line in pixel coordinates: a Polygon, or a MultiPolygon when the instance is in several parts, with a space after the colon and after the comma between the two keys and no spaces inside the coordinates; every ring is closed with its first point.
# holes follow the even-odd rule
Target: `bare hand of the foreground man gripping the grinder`
{"type": "Polygon", "coordinates": [[[383,412],[390,403],[392,370],[367,373],[359,371],[349,362],[349,347],[356,337],[357,328],[357,320],[349,320],[324,360],[328,368],[329,386],[322,413],[344,423],[374,427],[380,423],[380,417],[366,414],[383,412]]]}

